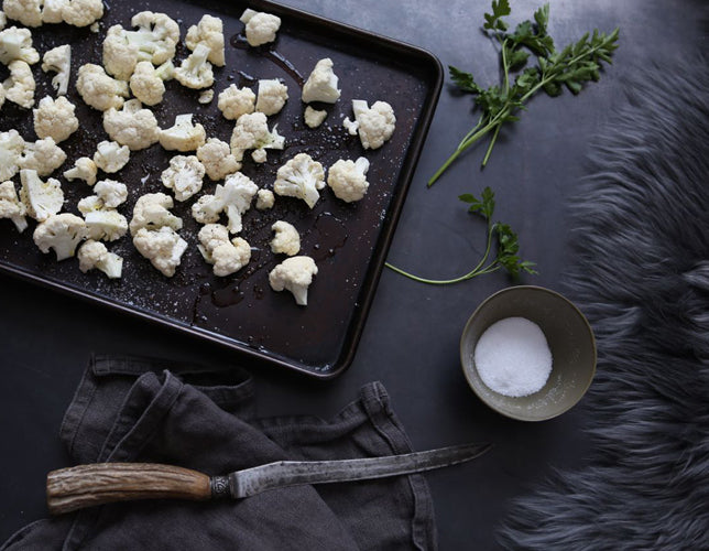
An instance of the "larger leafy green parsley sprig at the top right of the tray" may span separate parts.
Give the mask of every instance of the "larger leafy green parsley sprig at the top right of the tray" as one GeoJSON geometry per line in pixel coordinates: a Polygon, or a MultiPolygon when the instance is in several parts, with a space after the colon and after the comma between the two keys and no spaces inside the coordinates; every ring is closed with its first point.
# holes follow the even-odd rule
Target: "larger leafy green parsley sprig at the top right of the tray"
{"type": "Polygon", "coordinates": [[[618,48],[619,30],[610,34],[598,29],[586,33],[576,43],[569,44],[560,52],[547,32],[549,4],[534,12],[534,22],[520,23],[514,32],[509,32],[504,17],[511,13],[509,0],[492,0],[492,13],[484,14],[483,30],[500,43],[502,65],[502,84],[482,88],[470,73],[449,66],[450,77],[463,91],[475,94],[475,102],[481,115],[478,123],[465,136],[452,154],[428,181],[433,185],[440,175],[458,159],[460,153],[478,140],[492,132],[492,138],[482,160],[482,168],[490,159],[490,153],[498,139],[500,129],[505,122],[515,122],[520,110],[526,109],[526,102],[543,90],[549,96],[558,96],[564,87],[578,94],[583,84],[600,78],[601,64],[610,64],[613,51],[618,48]],[[536,57],[535,66],[526,66],[530,56],[536,57]]]}

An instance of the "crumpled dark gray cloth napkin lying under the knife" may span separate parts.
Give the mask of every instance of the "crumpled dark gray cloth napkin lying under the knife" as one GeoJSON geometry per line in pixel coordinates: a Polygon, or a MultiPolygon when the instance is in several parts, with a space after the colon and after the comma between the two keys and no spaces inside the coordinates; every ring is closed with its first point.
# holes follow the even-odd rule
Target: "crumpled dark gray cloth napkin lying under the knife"
{"type": "MultiPolygon", "coordinates": [[[[62,424],[77,463],[154,462],[208,475],[281,460],[411,451],[379,382],[335,419],[258,420],[253,387],[233,368],[96,357],[62,424]]],[[[40,520],[0,550],[397,550],[436,548],[421,475],[274,489],[243,500],[142,500],[40,520]]]]}

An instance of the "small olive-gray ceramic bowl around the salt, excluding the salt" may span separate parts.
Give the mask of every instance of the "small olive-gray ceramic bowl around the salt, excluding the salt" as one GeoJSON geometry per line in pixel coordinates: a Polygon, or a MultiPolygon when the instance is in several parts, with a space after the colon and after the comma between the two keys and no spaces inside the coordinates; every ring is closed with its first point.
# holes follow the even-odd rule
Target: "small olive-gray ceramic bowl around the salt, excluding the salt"
{"type": "Polygon", "coordinates": [[[460,360],[476,395],[499,413],[521,421],[560,415],[583,397],[596,372],[596,339],[583,314],[555,291],[533,285],[503,289],[486,299],[468,320],[460,339],[460,360]],[[506,317],[525,317],[539,326],[552,352],[546,385],[525,397],[508,397],[486,386],[475,363],[480,336],[506,317]]]}

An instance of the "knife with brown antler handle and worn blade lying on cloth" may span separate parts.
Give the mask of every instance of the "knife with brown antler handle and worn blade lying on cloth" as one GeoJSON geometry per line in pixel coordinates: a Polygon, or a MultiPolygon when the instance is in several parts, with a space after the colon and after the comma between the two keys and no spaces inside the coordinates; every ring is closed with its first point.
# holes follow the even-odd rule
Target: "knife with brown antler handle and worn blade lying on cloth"
{"type": "Polygon", "coordinates": [[[462,444],[426,452],[336,461],[279,461],[208,476],[156,463],[96,463],[52,471],[47,507],[52,515],[133,499],[242,499],[261,491],[302,484],[326,484],[406,475],[478,457],[491,444],[462,444]]]}

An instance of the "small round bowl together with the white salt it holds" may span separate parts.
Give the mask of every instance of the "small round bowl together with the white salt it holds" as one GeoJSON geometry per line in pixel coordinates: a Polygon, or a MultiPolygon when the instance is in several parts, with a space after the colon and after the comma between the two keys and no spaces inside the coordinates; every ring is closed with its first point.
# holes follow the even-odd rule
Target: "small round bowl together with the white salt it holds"
{"type": "Polygon", "coordinates": [[[486,299],[460,339],[468,383],[493,410],[544,421],[572,408],[596,372],[596,339],[583,314],[549,289],[519,285],[486,299]]]}

